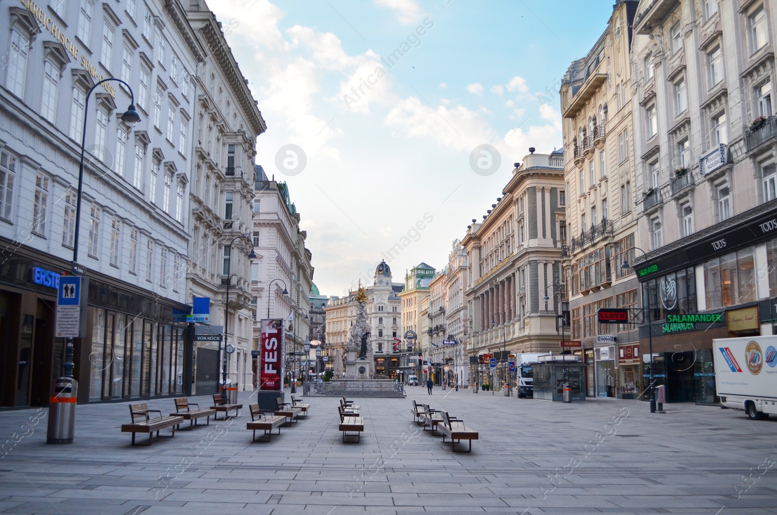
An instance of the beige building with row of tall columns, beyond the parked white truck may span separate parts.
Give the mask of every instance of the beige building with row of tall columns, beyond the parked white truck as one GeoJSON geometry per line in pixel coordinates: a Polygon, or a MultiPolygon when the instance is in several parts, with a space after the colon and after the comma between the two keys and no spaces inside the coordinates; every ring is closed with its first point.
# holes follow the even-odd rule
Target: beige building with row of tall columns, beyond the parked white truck
{"type": "MultiPolygon", "coordinates": [[[[468,267],[465,300],[472,317],[470,356],[559,351],[558,297],[549,286],[561,281],[564,158],[561,151],[534,151],[516,163],[503,197],[481,222],[472,221],[462,240],[468,267]],[[546,292],[548,301],[543,300],[546,292]]],[[[495,384],[501,384],[506,370],[507,359],[502,359],[495,384]]]]}

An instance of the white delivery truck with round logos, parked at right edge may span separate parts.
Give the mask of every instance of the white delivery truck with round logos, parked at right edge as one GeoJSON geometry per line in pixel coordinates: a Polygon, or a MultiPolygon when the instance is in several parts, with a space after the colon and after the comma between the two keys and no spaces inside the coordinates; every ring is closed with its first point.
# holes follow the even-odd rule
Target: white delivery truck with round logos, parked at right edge
{"type": "Polygon", "coordinates": [[[777,415],[777,336],[713,340],[720,404],[754,420],[777,415]]]}

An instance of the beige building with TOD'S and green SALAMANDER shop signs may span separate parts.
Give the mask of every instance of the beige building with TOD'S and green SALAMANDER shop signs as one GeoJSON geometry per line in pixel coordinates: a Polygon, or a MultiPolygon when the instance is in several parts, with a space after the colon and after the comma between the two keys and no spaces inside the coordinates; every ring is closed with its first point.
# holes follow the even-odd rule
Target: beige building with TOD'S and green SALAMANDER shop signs
{"type": "Polygon", "coordinates": [[[713,403],[712,338],[740,318],[771,335],[777,318],[775,20],[768,0],[653,0],[634,18],[640,349],[667,401],[713,403]],[[667,323],[707,312],[721,321],[667,323]]]}

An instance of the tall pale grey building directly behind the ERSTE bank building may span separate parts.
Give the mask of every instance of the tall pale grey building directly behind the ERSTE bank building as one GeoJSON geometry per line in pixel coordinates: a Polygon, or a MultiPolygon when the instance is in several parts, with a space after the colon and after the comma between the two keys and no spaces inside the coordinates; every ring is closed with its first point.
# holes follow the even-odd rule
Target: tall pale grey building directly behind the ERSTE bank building
{"type": "MultiPolygon", "coordinates": [[[[197,66],[195,85],[197,133],[191,152],[192,240],[186,300],[211,299],[210,324],[226,324],[227,343],[235,346],[235,352],[227,355],[228,379],[240,390],[250,390],[253,372],[249,356],[255,318],[248,258],[252,242],[240,236],[253,230],[256,137],[267,126],[213,12],[203,0],[190,0],[186,15],[207,51],[206,60],[197,66]],[[229,307],[225,321],[227,282],[229,307]]],[[[169,187],[169,179],[165,176],[158,180],[169,187]]],[[[223,345],[196,342],[195,363],[197,354],[212,356],[223,345]]]]}

